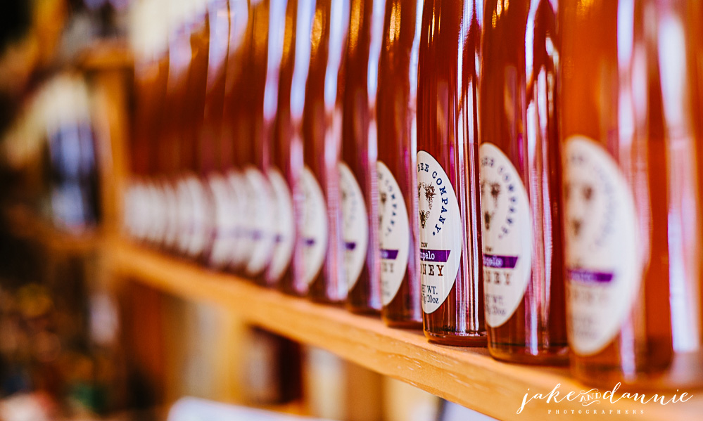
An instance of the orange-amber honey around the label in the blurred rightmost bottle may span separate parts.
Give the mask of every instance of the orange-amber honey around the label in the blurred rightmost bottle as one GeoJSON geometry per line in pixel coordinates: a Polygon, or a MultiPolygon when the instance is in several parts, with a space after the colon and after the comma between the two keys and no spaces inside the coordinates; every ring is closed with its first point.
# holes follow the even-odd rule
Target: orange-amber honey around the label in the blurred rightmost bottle
{"type": "MultiPolygon", "coordinates": [[[[700,56],[690,48],[700,32],[685,26],[687,15],[684,1],[635,1],[631,11],[607,0],[560,6],[560,25],[569,28],[562,35],[562,138],[588,136],[618,163],[634,197],[641,273],[619,333],[595,354],[572,358],[585,382],[703,384],[703,139],[692,101],[700,56]],[[670,48],[678,53],[666,55],[670,48]]],[[[566,229],[571,223],[566,215],[566,229]]]]}

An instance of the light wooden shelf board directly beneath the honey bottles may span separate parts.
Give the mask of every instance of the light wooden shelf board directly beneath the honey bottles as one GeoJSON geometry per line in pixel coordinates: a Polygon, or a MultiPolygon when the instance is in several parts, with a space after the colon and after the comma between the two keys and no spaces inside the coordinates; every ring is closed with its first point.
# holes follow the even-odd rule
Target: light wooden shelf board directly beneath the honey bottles
{"type": "Polygon", "coordinates": [[[597,419],[610,419],[617,410],[621,410],[617,418],[628,419],[633,415],[625,415],[625,410],[631,414],[633,409],[637,410],[638,420],[700,420],[703,413],[703,396],[697,394],[700,391],[688,391],[694,395],[692,399],[666,406],[653,402],[642,405],[625,399],[590,406],[583,406],[578,400],[531,401],[517,414],[528,392],[530,396],[548,394],[561,384],[561,398],[569,391],[578,394],[590,388],[572,380],[566,369],[500,363],[490,358],[485,349],[431,344],[422,332],[387,328],[379,318],[289,297],[125,240],[110,240],[107,250],[110,265],[120,276],[185,299],[225,306],[248,323],[327,349],[370,370],[500,420],[542,420],[555,415],[555,410],[561,413],[568,410],[569,420],[594,419],[593,410],[600,415],[597,419]],[[586,410],[590,411],[588,415],[586,410]],[[640,414],[640,410],[644,412],[640,414]],[[601,415],[601,411],[606,415],[601,415]]]}

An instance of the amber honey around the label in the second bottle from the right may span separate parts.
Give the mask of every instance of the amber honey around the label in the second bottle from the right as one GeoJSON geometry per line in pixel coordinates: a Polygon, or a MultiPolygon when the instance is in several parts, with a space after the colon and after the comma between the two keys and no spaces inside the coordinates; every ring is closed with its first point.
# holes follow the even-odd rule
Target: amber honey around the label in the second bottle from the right
{"type": "MultiPolygon", "coordinates": [[[[549,0],[514,0],[509,8],[489,0],[484,22],[481,143],[500,148],[520,174],[530,202],[533,245],[524,297],[505,323],[487,325],[488,350],[505,361],[565,364],[556,16],[549,0]]],[[[483,193],[482,200],[488,195],[483,193]]],[[[484,280],[491,282],[488,276],[484,280]]]]}

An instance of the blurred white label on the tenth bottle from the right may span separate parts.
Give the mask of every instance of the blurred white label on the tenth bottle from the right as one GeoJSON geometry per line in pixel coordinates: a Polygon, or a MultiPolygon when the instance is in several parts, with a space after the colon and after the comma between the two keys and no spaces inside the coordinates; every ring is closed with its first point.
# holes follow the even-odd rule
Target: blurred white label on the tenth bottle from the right
{"type": "Polygon", "coordinates": [[[215,226],[213,247],[210,249],[210,264],[217,268],[232,262],[232,250],[236,247],[236,203],[232,186],[220,174],[208,179],[213,197],[215,226]]]}

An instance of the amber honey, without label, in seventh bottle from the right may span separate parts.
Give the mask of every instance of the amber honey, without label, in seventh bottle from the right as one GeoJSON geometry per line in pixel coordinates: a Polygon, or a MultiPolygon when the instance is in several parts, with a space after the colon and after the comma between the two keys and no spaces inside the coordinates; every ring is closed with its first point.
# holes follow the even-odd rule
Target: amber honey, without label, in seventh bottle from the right
{"type": "MultiPolygon", "coordinates": [[[[272,166],[277,167],[286,178],[288,188],[293,197],[293,254],[288,267],[279,279],[279,288],[286,293],[303,295],[308,286],[303,280],[304,264],[303,242],[300,237],[301,207],[303,202],[300,193],[300,174],[303,171],[303,143],[300,136],[295,136],[296,124],[291,115],[291,90],[293,85],[293,70],[296,65],[296,38],[309,37],[304,30],[298,32],[298,0],[289,0],[286,5],[286,29],[284,32],[283,56],[279,73],[278,110],[273,127],[272,166]]],[[[300,13],[310,13],[304,9],[300,13]]],[[[305,27],[305,25],[300,25],[305,27]]],[[[298,59],[300,60],[300,59],[298,59]]],[[[308,63],[305,63],[307,66],[308,63]]]]}

